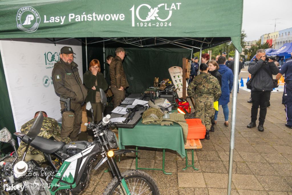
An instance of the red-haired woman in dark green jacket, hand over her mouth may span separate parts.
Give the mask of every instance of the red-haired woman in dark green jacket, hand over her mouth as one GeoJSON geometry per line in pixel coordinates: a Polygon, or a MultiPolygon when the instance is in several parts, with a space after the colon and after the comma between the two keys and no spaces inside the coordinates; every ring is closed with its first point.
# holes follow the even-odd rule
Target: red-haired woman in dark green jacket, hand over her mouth
{"type": "MultiPolygon", "coordinates": [[[[93,59],[90,62],[89,70],[83,75],[83,83],[88,89],[86,102],[91,102],[93,108],[93,119],[91,112],[87,112],[88,122],[98,122],[102,119],[102,104],[100,100],[99,89],[107,90],[107,81],[100,72],[100,63],[98,59],[93,59]]],[[[93,132],[87,129],[88,141],[93,141],[93,132]]]]}

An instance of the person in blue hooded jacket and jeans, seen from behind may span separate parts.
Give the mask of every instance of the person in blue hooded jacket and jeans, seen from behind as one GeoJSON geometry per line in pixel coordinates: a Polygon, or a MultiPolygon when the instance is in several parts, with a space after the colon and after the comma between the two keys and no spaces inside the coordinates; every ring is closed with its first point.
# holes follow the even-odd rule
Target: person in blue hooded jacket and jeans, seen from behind
{"type": "MultiPolygon", "coordinates": [[[[232,70],[225,66],[226,58],[224,56],[220,56],[218,58],[218,64],[219,64],[219,73],[221,74],[221,79],[222,79],[222,86],[221,86],[221,91],[222,94],[218,100],[218,105],[222,105],[223,108],[223,114],[225,118],[224,125],[228,126],[228,115],[229,115],[229,110],[228,110],[228,102],[230,102],[230,91],[233,87],[233,74],[232,70]]],[[[218,111],[215,111],[215,116],[214,120],[217,122],[217,115],[218,111]]]]}

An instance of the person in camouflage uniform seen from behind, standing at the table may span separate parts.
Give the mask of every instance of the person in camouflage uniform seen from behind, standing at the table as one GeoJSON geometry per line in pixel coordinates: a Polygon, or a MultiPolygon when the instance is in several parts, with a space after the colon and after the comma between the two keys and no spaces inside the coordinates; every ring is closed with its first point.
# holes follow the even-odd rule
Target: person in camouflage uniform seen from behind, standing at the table
{"type": "Polygon", "coordinates": [[[201,73],[187,87],[187,94],[194,98],[195,116],[206,126],[206,139],[209,138],[211,119],[214,116],[214,102],[221,95],[221,88],[217,78],[208,73],[208,65],[200,65],[201,73]]]}

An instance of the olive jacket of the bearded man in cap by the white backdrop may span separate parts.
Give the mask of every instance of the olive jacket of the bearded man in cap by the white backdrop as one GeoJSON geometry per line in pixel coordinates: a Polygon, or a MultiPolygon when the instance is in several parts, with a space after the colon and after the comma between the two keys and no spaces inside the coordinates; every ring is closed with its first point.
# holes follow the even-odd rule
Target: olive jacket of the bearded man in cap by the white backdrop
{"type": "Polygon", "coordinates": [[[62,98],[70,98],[72,103],[83,103],[87,89],[82,84],[77,67],[75,62],[70,65],[60,59],[54,65],[52,78],[55,91],[62,98]]]}

